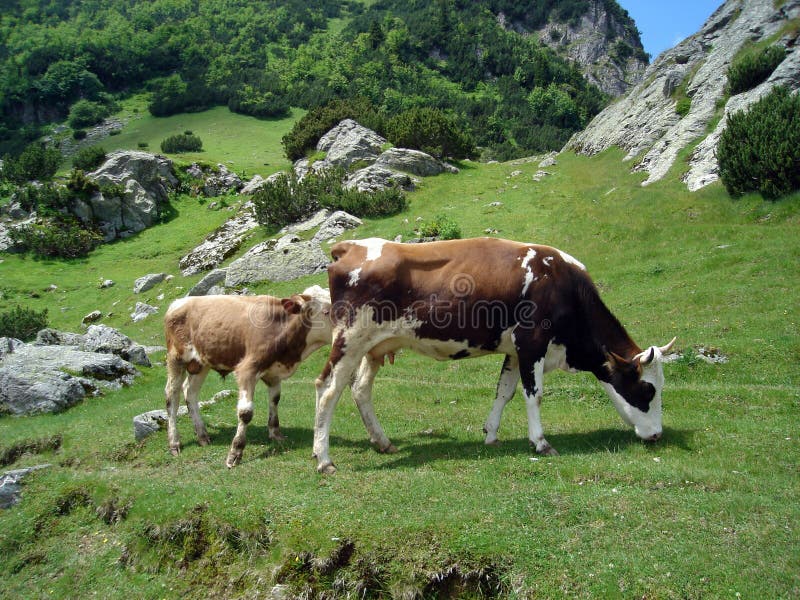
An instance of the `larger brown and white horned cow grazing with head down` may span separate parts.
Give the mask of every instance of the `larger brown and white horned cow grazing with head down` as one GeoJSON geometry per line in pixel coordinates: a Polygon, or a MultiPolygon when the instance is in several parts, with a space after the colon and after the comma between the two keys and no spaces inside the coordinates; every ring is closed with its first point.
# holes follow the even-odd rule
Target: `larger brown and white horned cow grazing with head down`
{"type": "Polygon", "coordinates": [[[506,403],[522,380],[528,437],[540,454],[557,454],[542,432],[544,373],[590,371],[640,438],[661,436],[662,354],[642,351],[603,304],[585,267],[555,248],[480,238],[399,244],[339,242],[328,267],[333,345],[317,379],[314,456],[328,455],[333,409],[352,380],[370,440],[394,451],[375,417],[372,383],[383,356],[411,348],[439,360],[505,354],[486,443],[497,443],[506,403]]]}

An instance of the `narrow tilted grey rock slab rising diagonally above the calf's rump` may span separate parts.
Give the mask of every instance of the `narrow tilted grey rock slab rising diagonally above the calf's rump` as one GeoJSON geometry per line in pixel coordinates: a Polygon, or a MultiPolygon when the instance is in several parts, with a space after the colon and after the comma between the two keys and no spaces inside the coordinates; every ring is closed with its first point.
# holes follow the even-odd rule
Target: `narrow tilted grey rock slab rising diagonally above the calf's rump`
{"type": "Polygon", "coordinates": [[[246,202],[239,212],[208,234],[203,242],[178,262],[184,277],[218,267],[235,253],[258,227],[253,204],[246,202]]]}

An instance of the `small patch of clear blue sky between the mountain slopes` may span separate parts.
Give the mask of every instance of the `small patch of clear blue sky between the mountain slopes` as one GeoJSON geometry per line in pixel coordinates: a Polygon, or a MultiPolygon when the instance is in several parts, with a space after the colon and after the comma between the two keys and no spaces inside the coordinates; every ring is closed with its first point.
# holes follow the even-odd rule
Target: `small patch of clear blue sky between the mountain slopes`
{"type": "Polygon", "coordinates": [[[724,4],[723,0],[617,0],[636,21],[650,61],[689,37],[724,4]]]}

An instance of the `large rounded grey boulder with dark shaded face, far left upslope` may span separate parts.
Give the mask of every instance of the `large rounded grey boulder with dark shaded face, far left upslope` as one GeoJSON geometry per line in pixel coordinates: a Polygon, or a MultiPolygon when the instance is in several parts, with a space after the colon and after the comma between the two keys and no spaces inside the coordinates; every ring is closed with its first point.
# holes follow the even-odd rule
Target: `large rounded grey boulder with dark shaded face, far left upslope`
{"type": "Polygon", "coordinates": [[[127,237],[155,224],[168,191],[177,187],[172,162],[147,152],[117,151],[88,177],[106,189],[74,212],[84,221],[99,223],[106,241],[127,237]],[[109,192],[108,190],[117,190],[109,192]]]}

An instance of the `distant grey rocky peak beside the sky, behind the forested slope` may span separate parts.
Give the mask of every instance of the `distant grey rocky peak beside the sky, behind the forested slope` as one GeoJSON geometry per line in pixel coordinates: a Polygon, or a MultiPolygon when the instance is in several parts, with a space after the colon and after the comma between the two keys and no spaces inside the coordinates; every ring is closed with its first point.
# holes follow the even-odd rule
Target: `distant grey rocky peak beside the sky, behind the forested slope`
{"type": "Polygon", "coordinates": [[[533,32],[507,22],[502,13],[498,21],[519,33],[538,36],[578,64],[586,79],[610,96],[620,96],[639,83],[647,68],[647,55],[632,21],[620,20],[608,10],[605,0],[591,0],[577,23],[551,21],[533,32]]]}

